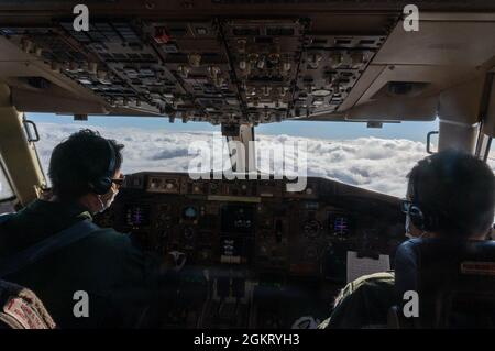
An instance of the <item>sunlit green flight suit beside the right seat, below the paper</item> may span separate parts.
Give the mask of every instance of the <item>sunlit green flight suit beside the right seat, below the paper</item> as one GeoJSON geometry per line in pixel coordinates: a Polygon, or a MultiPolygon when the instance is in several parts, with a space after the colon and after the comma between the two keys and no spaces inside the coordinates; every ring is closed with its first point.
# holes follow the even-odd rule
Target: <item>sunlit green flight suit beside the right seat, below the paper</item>
{"type": "Polygon", "coordinates": [[[319,329],[384,328],[396,304],[394,272],[375,273],[349,283],[336,299],[330,318],[319,329]]]}

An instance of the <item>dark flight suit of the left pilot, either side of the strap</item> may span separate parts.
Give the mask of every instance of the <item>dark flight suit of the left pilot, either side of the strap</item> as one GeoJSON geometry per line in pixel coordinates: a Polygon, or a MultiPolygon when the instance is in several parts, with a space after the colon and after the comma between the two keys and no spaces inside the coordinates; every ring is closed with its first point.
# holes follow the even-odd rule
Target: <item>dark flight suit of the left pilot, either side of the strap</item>
{"type": "MultiPolygon", "coordinates": [[[[80,205],[35,200],[0,224],[0,257],[85,219],[91,215],[80,205]]],[[[4,279],[33,290],[61,328],[135,327],[156,297],[160,266],[130,235],[101,229],[4,279]],[[89,316],[75,308],[77,292],[87,294],[89,316]]]]}

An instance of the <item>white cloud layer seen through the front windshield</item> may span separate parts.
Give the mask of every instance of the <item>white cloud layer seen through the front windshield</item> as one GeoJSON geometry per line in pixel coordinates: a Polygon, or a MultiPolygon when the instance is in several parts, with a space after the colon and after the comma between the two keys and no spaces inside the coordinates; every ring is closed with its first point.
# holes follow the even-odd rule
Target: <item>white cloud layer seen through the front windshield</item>
{"type": "MultiPolygon", "coordinates": [[[[168,132],[136,128],[98,130],[106,138],[116,139],[125,145],[124,173],[142,171],[187,172],[190,161],[198,154],[189,146],[202,142],[209,147],[215,136],[209,132],[168,132]]],[[[37,150],[44,169],[47,169],[53,147],[70,133],[81,129],[74,124],[38,123],[41,141],[37,150]]],[[[360,138],[353,140],[319,140],[288,135],[256,135],[260,150],[279,150],[284,143],[307,144],[307,151],[299,156],[286,152],[288,160],[306,156],[308,175],[321,176],[363,188],[403,197],[406,191],[406,175],[417,161],[426,156],[425,144],[410,140],[385,140],[360,138]]],[[[227,156],[227,149],[223,151],[227,156]]],[[[495,168],[495,162],[492,163],[495,168]]],[[[280,169],[280,164],[275,165],[280,169]]],[[[263,171],[263,169],[262,169],[263,171]]],[[[264,171],[267,171],[264,167],[264,171]]]]}

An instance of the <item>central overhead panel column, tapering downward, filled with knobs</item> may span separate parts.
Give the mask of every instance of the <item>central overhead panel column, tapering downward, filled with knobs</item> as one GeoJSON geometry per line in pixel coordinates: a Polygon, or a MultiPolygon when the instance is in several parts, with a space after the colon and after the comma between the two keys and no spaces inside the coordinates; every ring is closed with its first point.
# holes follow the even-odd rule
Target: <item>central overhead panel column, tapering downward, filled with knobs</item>
{"type": "Polygon", "coordinates": [[[294,106],[295,83],[306,23],[287,20],[230,20],[222,34],[249,122],[282,121],[294,106]]]}

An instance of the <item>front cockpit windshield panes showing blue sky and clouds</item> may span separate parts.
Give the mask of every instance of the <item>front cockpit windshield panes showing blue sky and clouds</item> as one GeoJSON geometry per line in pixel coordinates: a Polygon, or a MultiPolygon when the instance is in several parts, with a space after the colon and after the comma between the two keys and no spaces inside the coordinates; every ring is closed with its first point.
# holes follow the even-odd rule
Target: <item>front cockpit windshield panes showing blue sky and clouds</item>
{"type": "MultiPolygon", "coordinates": [[[[70,133],[84,128],[125,145],[123,172],[188,172],[197,156],[193,144],[212,147],[223,140],[220,127],[208,123],[168,123],[163,118],[89,117],[73,121],[72,117],[31,113],[37,123],[41,141],[36,144],[45,173],[53,147],[70,133]]],[[[369,129],[365,123],[286,121],[255,129],[257,150],[277,150],[290,143],[304,149],[285,154],[285,162],[306,158],[307,175],[319,176],[362,188],[403,197],[406,176],[417,161],[427,156],[426,134],[438,130],[438,122],[404,122],[369,129]],[[280,146],[282,145],[282,146],[280,146]]],[[[224,147],[221,153],[228,155],[224,147]]],[[[217,156],[215,154],[212,157],[217,156]]],[[[260,156],[260,155],[258,155],[260,156]]],[[[227,157],[228,158],[228,157],[227,157]]],[[[277,158],[277,157],[275,157],[277,158]]],[[[258,162],[263,172],[277,172],[282,161],[270,167],[258,162]]],[[[211,163],[215,169],[229,165],[211,163]]]]}

